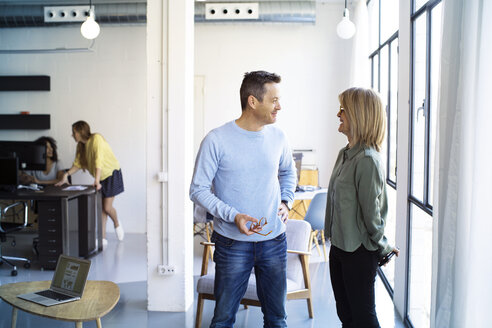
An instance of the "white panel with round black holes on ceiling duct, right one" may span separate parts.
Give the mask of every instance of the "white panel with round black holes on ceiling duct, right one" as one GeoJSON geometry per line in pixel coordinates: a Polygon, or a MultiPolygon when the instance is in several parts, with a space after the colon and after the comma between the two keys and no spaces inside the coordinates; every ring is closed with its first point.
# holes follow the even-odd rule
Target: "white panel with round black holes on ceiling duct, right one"
{"type": "Polygon", "coordinates": [[[257,2],[206,3],[205,19],[258,19],[257,2]]]}

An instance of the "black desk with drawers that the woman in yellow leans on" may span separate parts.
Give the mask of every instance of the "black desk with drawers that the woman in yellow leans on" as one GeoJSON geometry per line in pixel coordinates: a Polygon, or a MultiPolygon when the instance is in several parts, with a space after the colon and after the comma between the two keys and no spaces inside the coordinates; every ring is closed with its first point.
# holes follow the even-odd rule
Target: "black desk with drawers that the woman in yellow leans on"
{"type": "Polygon", "coordinates": [[[62,253],[89,257],[102,251],[102,201],[94,187],[78,191],[64,191],[55,186],[46,186],[42,191],[19,189],[0,192],[0,199],[38,202],[38,251],[42,268],[55,269],[62,253]]]}

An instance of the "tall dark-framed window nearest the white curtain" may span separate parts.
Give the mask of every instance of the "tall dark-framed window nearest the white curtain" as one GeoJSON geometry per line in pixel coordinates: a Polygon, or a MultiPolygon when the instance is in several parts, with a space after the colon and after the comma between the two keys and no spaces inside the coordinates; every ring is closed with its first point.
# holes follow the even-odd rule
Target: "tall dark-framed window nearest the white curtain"
{"type": "Polygon", "coordinates": [[[440,0],[415,0],[411,26],[411,129],[407,322],[430,327],[432,205],[437,83],[441,46],[440,0]]]}

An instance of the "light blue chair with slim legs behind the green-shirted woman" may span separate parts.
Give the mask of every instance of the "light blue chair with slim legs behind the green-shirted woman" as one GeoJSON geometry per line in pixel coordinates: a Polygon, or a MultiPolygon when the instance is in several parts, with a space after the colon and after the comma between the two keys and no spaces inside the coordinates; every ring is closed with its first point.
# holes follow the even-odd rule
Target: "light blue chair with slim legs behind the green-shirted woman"
{"type": "Polygon", "coordinates": [[[309,247],[313,244],[316,245],[318,249],[318,254],[321,255],[321,250],[318,243],[318,234],[321,234],[321,242],[323,244],[323,253],[325,255],[325,262],[328,261],[326,256],[326,245],[325,245],[325,211],[326,211],[326,197],[327,192],[320,192],[314,195],[313,200],[309,204],[306,215],[304,216],[304,221],[311,224],[312,231],[311,237],[309,239],[309,247]]]}

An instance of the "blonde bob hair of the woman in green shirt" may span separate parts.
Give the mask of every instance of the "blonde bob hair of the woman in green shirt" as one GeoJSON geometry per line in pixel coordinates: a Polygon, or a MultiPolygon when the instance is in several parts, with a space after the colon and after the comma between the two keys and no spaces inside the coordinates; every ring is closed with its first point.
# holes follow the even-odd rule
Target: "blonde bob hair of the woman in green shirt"
{"type": "Polygon", "coordinates": [[[386,133],[386,112],[379,95],[371,89],[350,88],[338,95],[350,123],[352,143],[381,151],[386,133]]]}

